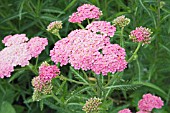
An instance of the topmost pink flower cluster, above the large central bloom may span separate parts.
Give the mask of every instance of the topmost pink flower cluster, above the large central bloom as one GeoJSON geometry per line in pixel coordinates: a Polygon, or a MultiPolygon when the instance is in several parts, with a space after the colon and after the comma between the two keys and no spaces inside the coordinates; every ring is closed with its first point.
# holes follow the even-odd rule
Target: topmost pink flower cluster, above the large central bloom
{"type": "Polygon", "coordinates": [[[84,4],[77,8],[77,12],[69,17],[69,22],[81,23],[85,19],[99,19],[102,15],[100,9],[91,4],[84,4]]]}

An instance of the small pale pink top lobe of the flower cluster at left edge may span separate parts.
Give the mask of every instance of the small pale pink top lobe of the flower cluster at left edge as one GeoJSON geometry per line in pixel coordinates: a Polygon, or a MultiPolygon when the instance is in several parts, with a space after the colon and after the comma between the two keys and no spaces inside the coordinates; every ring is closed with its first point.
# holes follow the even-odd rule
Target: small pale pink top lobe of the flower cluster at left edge
{"type": "Polygon", "coordinates": [[[26,34],[15,34],[15,35],[8,35],[3,40],[2,43],[5,44],[5,46],[12,46],[12,45],[18,45],[21,43],[24,43],[28,41],[28,38],[26,37],[26,34]]]}

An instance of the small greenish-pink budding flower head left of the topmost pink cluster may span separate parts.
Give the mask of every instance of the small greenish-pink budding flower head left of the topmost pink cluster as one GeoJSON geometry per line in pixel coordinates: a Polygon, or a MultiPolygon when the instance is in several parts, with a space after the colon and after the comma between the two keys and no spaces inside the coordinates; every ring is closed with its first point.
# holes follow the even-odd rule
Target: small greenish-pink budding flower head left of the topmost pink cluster
{"type": "Polygon", "coordinates": [[[57,35],[60,29],[62,29],[62,21],[54,21],[47,26],[47,31],[54,35],[57,35]]]}

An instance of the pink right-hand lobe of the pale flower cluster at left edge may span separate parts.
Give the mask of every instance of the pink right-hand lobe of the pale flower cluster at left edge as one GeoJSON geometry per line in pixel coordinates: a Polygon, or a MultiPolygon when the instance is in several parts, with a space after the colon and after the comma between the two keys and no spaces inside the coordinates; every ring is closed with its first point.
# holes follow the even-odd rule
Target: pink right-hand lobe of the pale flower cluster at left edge
{"type": "Polygon", "coordinates": [[[47,38],[34,37],[28,41],[28,52],[32,57],[38,57],[38,55],[45,49],[48,45],[47,38]]]}

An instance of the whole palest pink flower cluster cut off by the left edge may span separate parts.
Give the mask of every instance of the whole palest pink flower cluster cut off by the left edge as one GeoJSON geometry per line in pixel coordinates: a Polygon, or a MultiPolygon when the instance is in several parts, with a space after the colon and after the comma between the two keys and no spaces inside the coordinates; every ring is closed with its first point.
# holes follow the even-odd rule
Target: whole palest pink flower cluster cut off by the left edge
{"type": "Polygon", "coordinates": [[[25,34],[16,34],[4,38],[3,43],[7,47],[0,51],[0,78],[10,77],[14,66],[29,65],[29,60],[37,57],[48,44],[46,38],[35,37],[28,41],[25,36],[25,34]]]}

